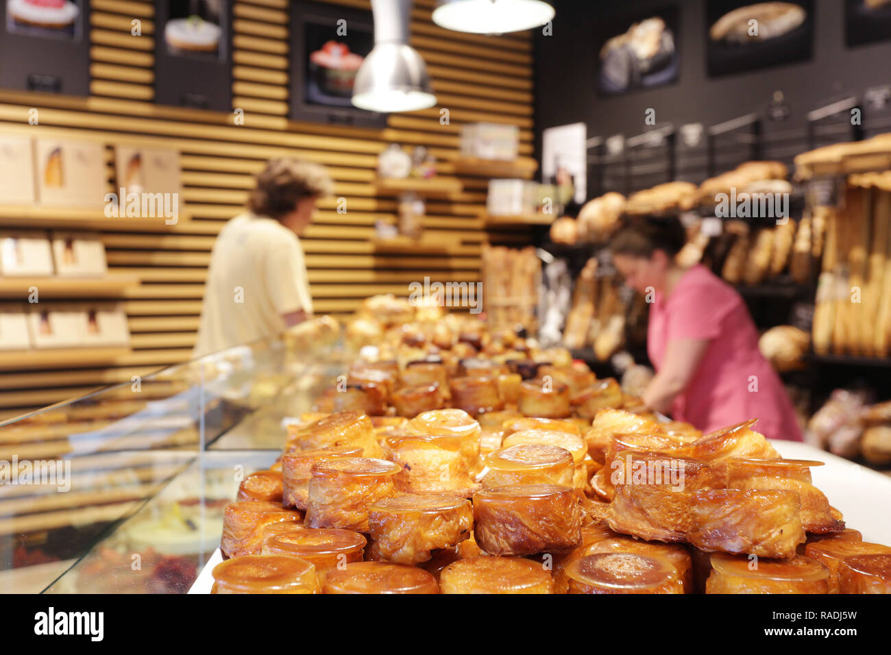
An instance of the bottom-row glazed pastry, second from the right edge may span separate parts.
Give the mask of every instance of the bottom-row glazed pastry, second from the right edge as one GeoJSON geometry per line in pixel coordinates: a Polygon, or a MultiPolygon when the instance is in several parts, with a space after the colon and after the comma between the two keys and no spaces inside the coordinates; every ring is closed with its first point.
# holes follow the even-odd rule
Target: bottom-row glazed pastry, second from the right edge
{"type": "Polygon", "coordinates": [[[714,553],[706,594],[828,594],[830,570],[819,561],[749,559],[714,553]]]}

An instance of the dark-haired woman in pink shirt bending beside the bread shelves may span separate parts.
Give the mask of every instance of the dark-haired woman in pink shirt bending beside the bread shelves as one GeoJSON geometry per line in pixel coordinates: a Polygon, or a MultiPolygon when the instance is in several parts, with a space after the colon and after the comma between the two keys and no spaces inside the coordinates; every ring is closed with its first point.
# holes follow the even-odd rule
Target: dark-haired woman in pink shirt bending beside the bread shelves
{"type": "Polygon", "coordinates": [[[767,438],[801,441],[746,304],[705,266],[678,266],[684,242],[677,218],[642,217],[610,244],[625,283],[650,303],[647,352],[656,375],[643,401],[703,432],[756,418],[755,430],[767,438]]]}

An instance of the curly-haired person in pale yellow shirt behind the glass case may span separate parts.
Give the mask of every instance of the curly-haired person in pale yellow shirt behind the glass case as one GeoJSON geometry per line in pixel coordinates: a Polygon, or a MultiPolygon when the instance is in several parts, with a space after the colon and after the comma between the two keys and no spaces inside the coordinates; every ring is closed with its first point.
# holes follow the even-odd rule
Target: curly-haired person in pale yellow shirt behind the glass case
{"type": "Polygon", "coordinates": [[[298,235],[331,177],[314,163],[270,160],[248,210],[231,219],[210,253],[194,356],[274,336],[313,314],[298,235]]]}

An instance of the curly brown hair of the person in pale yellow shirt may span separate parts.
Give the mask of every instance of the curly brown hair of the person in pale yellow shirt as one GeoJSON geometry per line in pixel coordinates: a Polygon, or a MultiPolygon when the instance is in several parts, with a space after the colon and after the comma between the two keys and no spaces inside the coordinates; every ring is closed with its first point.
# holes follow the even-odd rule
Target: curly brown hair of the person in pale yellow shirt
{"type": "Polygon", "coordinates": [[[284,158],[269,160],[255,179],[248,209],[276,220],[290,214],[303,198],[331,195],[334,186],[321,164],[284,158]]]}

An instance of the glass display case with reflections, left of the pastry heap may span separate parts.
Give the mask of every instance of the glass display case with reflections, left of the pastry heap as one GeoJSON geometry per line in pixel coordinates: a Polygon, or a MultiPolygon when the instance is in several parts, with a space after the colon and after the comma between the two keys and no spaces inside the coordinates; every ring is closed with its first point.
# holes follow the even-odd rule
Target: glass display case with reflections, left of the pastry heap
{"type": "Polygon", "coordinates": [[[345,370],[309,323],[0,424],[0,593],[184,594],[241,479],[345,370]]]}

